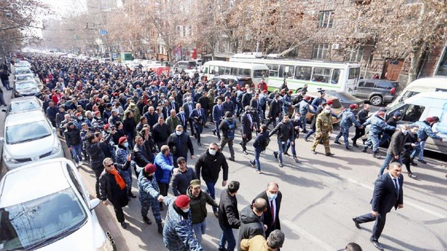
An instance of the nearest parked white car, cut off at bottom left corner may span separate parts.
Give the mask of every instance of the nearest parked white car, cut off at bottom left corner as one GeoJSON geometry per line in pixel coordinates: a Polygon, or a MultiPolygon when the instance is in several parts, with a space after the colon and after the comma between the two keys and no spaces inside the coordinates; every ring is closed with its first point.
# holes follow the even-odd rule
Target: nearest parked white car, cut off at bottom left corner
{"type": "Polygon", "coordinates": [[[112,250],[73,162],[34,162],[0,182],[1,250],[112,250]]]}

